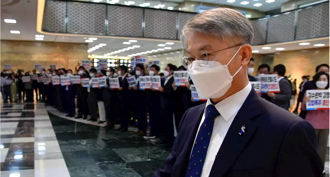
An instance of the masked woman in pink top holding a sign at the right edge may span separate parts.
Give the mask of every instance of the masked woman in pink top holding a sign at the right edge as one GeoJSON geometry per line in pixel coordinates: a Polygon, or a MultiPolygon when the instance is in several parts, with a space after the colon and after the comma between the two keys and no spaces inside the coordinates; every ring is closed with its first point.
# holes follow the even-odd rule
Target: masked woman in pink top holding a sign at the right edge
{"type": "MultiPolygon", "coordinates": [[[[315,74],[312,80],[314,87],[320,90],[329,89],[329,73],[320,71],[315,74]]],[[[315,90],[315,89],[312,89],[315,90]]],[[[306,111],[306,104],[311,98],[304,95],[301,109],[306,111]]],[[[322,159],[324,166],[326,153],[327,153],[327,143],[329,136],[329,109],[327,110],[308,110],[306,114],[306,119],[309,123],[313,125],[316,130],[317,140],[318,140],[318,153],[322,159]]],[[[325,171],[323,171],[325,174],[325,171]]]]}

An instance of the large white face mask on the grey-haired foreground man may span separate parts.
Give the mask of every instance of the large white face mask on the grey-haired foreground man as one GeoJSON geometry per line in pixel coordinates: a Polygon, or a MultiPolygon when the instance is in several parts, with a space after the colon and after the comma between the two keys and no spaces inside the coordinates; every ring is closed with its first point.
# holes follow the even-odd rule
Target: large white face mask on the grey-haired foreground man
{"type": "Polygon", "coordinates": [[[216,61],[205,60],[198,61],[201,65],[206,64],[205,66],[201,66],[197,62],[191,63],[192,66],[188,73],[200,98],[220,98],[229,90],[233,77],[241,70],[242,66],[232,76],[229,72],[228,64],[234,59],[241,47],[226,65],[216,61]]]}

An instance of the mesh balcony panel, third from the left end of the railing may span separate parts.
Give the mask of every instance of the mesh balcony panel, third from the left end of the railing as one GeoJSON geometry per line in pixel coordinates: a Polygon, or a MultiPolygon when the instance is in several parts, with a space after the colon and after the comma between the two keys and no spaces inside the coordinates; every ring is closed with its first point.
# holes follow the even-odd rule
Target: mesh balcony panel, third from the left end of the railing
{"type": "Polygon", "coordinates": [[[142,37],[142,8],[109,5],[107,19],[107,35],[142,37]]]}

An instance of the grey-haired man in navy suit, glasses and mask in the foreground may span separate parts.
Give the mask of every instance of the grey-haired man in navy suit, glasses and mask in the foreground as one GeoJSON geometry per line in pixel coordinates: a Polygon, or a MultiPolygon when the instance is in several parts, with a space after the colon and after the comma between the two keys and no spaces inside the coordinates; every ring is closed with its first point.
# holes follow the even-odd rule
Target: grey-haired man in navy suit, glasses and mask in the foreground
{"type": "Polygon", "coordinates": [[[183,115],[165,168],[154,177],[319,177],[313,126],[257,95],[248,81],[251,22],[214,8],[192,17],[181,40],[206,104],[183,115]]]}

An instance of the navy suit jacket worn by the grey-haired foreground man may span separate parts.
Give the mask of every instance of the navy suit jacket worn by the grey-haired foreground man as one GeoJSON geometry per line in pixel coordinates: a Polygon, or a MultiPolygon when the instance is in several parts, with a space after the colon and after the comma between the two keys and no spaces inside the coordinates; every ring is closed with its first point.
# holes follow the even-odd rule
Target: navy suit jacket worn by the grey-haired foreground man
{"type": "MultiPolygon", "coordinates": [[[[165,169],[154,177],[184,177],[205,104],[183,115],[165,169]]],[[[209,177],[319,177],[324,169],[317,154],[313,126],[260,98],[251,90],[235,116],[209,177]],[[245,133],[239,135],[246,125],[245,133]]]]}

